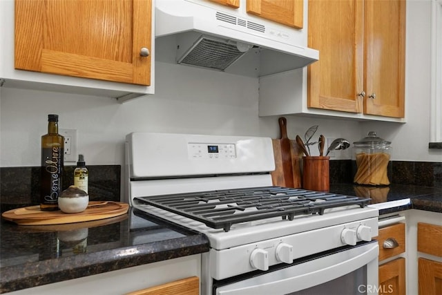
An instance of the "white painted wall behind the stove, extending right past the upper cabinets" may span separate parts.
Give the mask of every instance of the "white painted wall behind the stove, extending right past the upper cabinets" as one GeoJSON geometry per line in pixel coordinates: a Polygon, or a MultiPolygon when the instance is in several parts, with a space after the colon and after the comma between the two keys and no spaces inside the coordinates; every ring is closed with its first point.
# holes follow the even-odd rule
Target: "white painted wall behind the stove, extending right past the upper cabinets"
{"type": "MultiPolygon", "coordinates": [[[[429,0],[407,3],[406,62],[407,124],[288,116],[289,137],[316,124],[315,137],[322,133],[350,142],[374,130],[393,142],[393,160],[442,162],[441,150],[427,149],[429,0]]],[[[107,97],[0,88],[0,166],[40,164],[40,137],[49,113],[59,115],[59,128],[77,129],[78,152],[86,164],[124,164],[124,136],[132,131],[279,137],[278,117],[258,117],[257,79],[163,62],[155,71],[155,95],[124,104],[107,97]]],[[[335,154],[352,156],[351,150],[335,154]]]]}

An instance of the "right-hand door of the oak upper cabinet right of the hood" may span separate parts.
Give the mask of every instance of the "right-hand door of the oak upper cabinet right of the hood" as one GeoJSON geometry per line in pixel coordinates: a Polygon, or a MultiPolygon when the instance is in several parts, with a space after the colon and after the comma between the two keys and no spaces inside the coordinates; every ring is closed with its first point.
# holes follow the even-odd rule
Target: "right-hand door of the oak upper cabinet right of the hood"
{"type": "Polygon", "coordinates": [[[364,12],[364,113],[404,117],[405,0],[365,0],[364,12]]]}

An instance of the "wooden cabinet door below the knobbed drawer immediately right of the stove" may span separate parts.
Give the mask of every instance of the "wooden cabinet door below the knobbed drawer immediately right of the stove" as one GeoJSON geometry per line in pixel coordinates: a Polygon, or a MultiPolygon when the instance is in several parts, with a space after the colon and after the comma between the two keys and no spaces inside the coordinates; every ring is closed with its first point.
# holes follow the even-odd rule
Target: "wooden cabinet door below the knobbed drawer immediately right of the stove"
{"type": "Polygon", "coordinates": [[[379,266],[379,294],[405,295],[405,258],[379,266]]]}

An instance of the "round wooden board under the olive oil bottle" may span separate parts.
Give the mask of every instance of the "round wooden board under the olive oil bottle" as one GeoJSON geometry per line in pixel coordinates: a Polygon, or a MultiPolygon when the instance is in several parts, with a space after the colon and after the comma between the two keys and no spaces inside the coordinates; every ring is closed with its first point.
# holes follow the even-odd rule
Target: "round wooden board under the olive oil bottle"
{"type": "Polygon", "coordinates": [[[17,225],[61,225],[65,223],[100,220],[125,214],[129,205],[123,202],[90,201],[80,213],[41,211],[40,206],[30,206],[6,211],[1,216],[17,225]]]}

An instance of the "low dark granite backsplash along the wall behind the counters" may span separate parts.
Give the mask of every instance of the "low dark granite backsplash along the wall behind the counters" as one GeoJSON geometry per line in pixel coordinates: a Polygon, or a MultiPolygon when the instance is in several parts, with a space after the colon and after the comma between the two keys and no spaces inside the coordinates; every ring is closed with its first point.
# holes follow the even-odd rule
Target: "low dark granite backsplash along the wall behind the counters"
{"type": "MultiPolygon", "coordinates": [[[[411,184],[442,188],[442,163],[393,161],[389,169],[392,184],[411,184]]],[[[64,167],[63,189],[73,184],[75,166],[64,167]]],[[[88,165],[90,200],[127,202],[120,193],[121,166],[88,165]]],[[[40,167],[0,167],[0,209],[11,209],[39,204],[40,167]]],[[[352,160],[330,162],[330,183],[352,183],[352,160]]]]}

